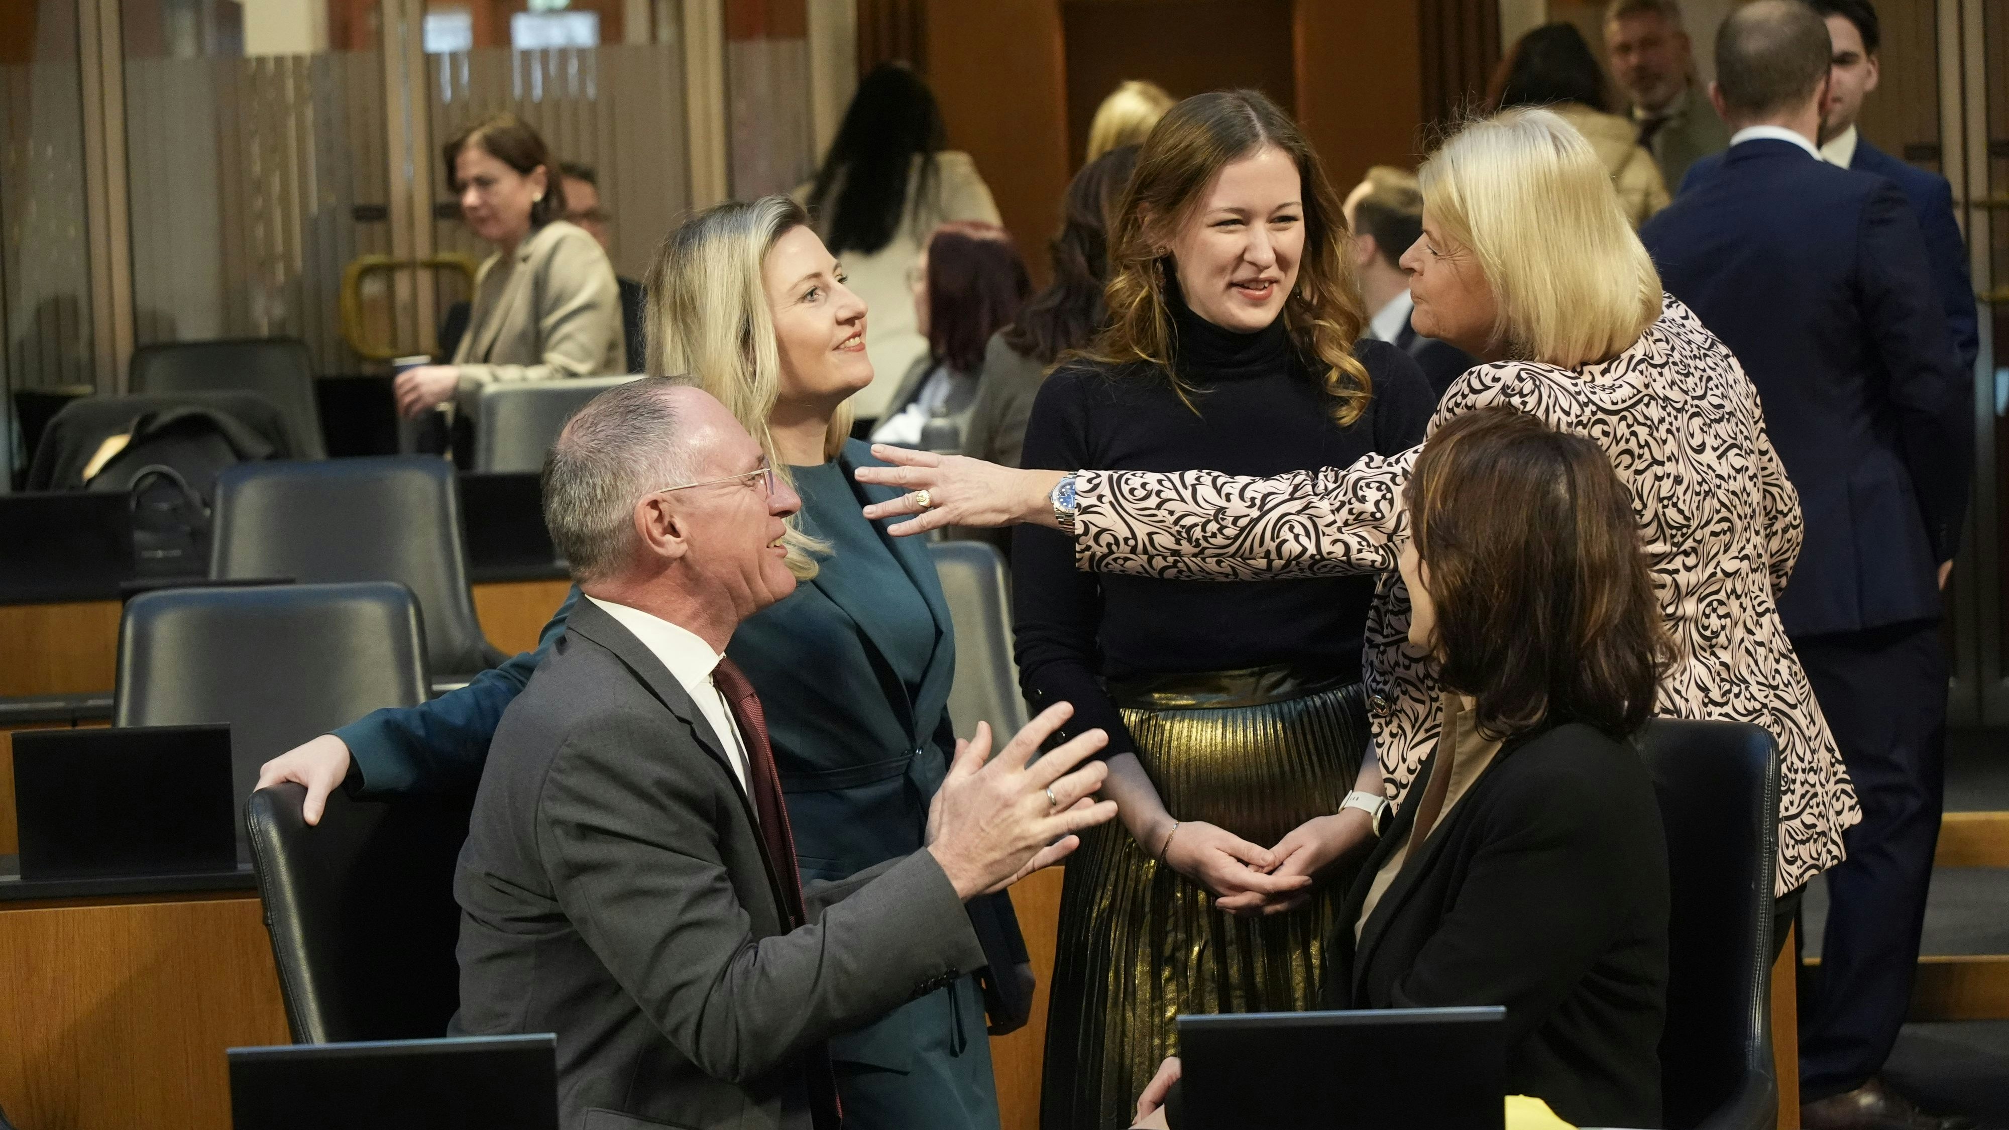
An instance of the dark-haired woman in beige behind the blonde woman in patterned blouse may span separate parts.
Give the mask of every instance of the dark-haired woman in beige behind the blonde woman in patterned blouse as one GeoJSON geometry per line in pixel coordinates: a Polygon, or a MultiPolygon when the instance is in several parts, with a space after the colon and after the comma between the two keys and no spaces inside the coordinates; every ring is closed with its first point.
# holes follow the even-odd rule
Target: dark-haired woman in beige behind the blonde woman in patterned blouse
{"type": "Polygon", "coordinates": [[[1487,113],[1547,107],[1577,129],[1611,173],[1625,219],[1637,231],[1667,207],[1667,185],[1653,155],[1639,145],[1639,127],[1611,113],[1605,72],[1571,24],[1543,24],[1501,58],[1487,84],[1487,113]]]}

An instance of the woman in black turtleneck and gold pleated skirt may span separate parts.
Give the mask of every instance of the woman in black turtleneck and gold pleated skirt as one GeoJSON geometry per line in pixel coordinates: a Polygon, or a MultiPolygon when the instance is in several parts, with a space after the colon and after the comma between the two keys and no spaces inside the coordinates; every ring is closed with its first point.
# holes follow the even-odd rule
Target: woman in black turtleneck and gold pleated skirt
{"type": "MultiPolygon", "coordinates": [[[[1342,223],[1262,95],[1175,107],[1111,235],[1109,330],[1041,388],[1023,464],[1282,475],[1422,442],[1434,396],[1362,338],[1342,223]]],[[[1109,732],[1123,816],[1067,867],[1043,1124],[1127,1126],[1173,1015],[1318,1007],[1336,899],[1306,871],[1368,744],[1374,581],[1085,573],[1031,525],[1013,571],[1027,698],[1109,732]]]]}

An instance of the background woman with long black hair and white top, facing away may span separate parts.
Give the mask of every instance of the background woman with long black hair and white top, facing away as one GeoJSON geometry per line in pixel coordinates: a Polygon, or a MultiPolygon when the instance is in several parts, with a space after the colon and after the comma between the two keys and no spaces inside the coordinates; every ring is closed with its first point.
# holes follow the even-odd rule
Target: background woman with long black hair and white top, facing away
{"type": "Polygon", "coordinates": [[[934,90],[906,64],[882,62],[858,82],[816,181],[796,189],[852,294],[872,310],[866,356],[876,376],[852,396],[860,420],[886,414],[900,376],[928,356],[908,294],[922,243],[942,223],[998,223],[976,163],[944,145],[934,90]]]}

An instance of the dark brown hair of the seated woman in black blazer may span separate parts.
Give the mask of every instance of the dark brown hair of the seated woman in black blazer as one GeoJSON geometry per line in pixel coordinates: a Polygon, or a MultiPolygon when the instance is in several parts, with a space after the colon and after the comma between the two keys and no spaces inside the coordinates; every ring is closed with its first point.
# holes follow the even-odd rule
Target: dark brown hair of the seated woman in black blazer
{"type": "Polygon", "coordinates": [[[1493,736],[1583,722],[1623,740],[1673,647],[1605,452],[1515,408],[1444,422],[1408,487],[1440,680],[1493,736]]]}

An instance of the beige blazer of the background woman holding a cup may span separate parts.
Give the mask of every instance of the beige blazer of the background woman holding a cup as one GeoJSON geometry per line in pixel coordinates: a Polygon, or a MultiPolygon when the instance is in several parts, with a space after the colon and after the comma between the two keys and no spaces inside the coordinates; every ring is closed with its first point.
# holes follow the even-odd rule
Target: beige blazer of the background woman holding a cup
{"type": "Polygon", "coordinates": [[[474,310],[454,350],[460,406],[488,384],[627,372],[621,286],[587,229],[554,219],[474,273],[474,310]]]}

